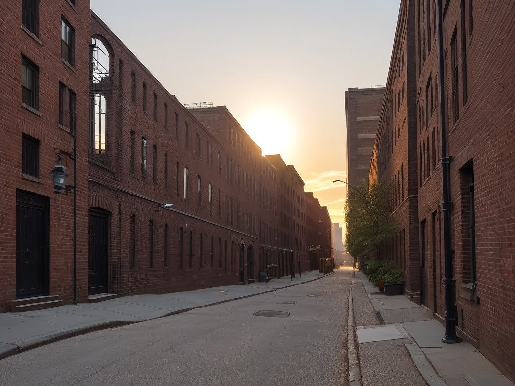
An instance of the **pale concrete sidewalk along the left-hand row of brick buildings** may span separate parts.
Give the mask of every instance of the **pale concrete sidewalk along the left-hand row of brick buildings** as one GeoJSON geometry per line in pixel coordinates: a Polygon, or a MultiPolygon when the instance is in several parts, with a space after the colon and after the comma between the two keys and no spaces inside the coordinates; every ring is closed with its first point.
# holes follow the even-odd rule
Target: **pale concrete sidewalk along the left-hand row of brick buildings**
{"type": "Polygon", "coordinates": [[[0,313],[0,358],[84,332],[161,318],[192,308],[304,284],[324,276],[327,275],[311,271],[301,277],[297,275],[293,282],[285,276],[268,283],[123,296],[98,303],[0,313]]]}

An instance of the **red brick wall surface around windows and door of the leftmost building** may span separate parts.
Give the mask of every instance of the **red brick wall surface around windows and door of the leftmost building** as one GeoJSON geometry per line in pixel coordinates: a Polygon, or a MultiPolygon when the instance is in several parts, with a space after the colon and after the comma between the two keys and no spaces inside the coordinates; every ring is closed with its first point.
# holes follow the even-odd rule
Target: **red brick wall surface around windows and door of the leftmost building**
{"type": "Polygon", "coordinates": [[[88,44],[90,41],[89,2],[74,8],[65,0],[45,3],[39,10],[38,38],[21,27],[21,2],[0,5],[0,311],[16,298],[16,190],[34,192],[49,199],[49,293],[65,302],[73,299],[73,194],[54,194],[48,174],[55,166],[55,147],[62,151],[63,164],[73,184],[73,137],[58,126],[59,82],[77,95],[77,215],[78,294],[87,291],[87,128],[88,128],[88,44]],[[61,61],[61,15],[76,30],[76,66],[61,61]],[[39,112],[22,107],[21,58],[26,56],[39,67],[39,112]],[[40,178],[22,176],[22,134],[40,141],[40,178]]]}

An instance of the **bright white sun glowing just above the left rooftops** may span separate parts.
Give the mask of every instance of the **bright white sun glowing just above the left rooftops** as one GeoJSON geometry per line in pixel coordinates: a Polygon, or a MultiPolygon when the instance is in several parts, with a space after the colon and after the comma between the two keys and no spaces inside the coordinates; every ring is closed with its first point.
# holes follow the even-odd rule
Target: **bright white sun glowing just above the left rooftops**
{"type": "Polygon", "coordinates": [[[263,155],[284,154],[293,141],[289,122],[271,109],[263,109],[251,115],[244,129],[261,148],[263,155]]]}

